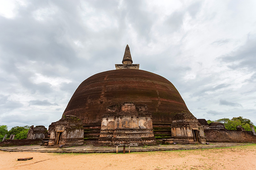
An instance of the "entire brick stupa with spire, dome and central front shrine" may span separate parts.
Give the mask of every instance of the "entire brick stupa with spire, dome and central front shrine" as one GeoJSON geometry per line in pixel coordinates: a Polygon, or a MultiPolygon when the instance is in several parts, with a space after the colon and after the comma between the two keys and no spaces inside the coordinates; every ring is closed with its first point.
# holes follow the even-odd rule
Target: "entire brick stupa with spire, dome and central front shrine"
{"type": "MultiPolygon", "coordinates": [[[[171,132],[171,129],[178,127],[177,120],[174,119],[176,114],[192,114],[169,80],[157,74],[139,70],[139,64],[132,64],[128,45],[125,48],[122,63],[115,65],[116,70],[104,71],[84,80],[74,92],[63,113],[63,115],[74,115],[83,122],[84,139],[87,142],[99,141],[113,144],[116,141],[122,143],[124,138],[133,137],[123,142],[139,143],[134,139],[134,135],[138,133],[139,140],[142,140],[142,133],[145,133],[149,138],[144,142],[155,143],[154,137],[172,139],[175,135],[179,136],[179,132],[183,134],[179,138],[186,138],[189,130],[190,138],[195,140],[182,140],[183,143],[205,141],[205,139],[196,140],[204,137],[203,130],[199,129],[200,126],[193,126],[193,129],[188,126],[186,128],[190,129],[185,129],[186,133],[182,132],[182,128],[178,128],[178,133],[171,132]],[[146,110],[141,111],[141,108],[146,110]],[[175,127],[171,126],[173,121],[176,121],[175,127]],[[141,132],[135,133],[136,129],[145,131],[138,130],[141,132]],[[115,130],[121,131],[117,134],[115,130]],[[122,130],[124,134],[121,134],[122,130]],[[127,130],[131,133],[130,137],[125,134],[128,133],[127,130]],[[121,139],[122,135],[123,139],[121,139]]],[[[200,125],[198,121],[196,124],[200,125]]]]}

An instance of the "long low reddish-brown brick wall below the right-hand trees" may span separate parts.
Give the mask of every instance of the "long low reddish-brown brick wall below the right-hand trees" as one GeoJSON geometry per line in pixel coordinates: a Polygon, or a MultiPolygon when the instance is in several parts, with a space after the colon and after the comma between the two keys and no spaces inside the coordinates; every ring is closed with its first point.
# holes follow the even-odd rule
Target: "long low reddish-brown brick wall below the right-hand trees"
{"type": "Polygon", "coordinates": [[[256,142],[251,131],[204,129],[207,142],[256,142]]]}

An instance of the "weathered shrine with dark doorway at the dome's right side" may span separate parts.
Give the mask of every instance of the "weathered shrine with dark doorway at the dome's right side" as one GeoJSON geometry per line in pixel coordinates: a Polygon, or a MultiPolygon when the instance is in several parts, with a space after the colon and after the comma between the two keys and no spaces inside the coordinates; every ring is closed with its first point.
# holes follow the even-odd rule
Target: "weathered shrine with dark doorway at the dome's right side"
{"type": "Polygon", "coordinates": [[[177,144],[205,144],[204,128],[191,113],[177,113],[171,125],[172,139],[177,144]]]}

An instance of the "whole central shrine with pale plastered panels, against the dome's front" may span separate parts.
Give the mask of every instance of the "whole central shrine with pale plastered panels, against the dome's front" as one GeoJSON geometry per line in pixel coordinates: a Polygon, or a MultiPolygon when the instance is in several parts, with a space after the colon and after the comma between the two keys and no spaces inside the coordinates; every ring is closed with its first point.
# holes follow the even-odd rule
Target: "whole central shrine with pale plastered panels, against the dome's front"
{"type": "Polygon", "coordinates": [[[147,105],[123,103],[107,108],[102,116],[99,144],[155,144],[152,116],[147,105]]]}

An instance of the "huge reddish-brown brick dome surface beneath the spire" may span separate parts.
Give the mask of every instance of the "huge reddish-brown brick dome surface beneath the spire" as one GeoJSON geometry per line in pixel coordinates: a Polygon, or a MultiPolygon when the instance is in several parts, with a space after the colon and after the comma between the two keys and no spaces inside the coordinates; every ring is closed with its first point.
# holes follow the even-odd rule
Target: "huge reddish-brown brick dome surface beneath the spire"
{"type": "Polygon", "coordinates": [[[175,113],[190,113],[180,93],[166,78],[138,70],[109,70],[84,80],[63,115],[75,115],[84,125],[100,125],[108,106],[133,102],[146,104],[154,124],[170,124],[175,113]]]}

